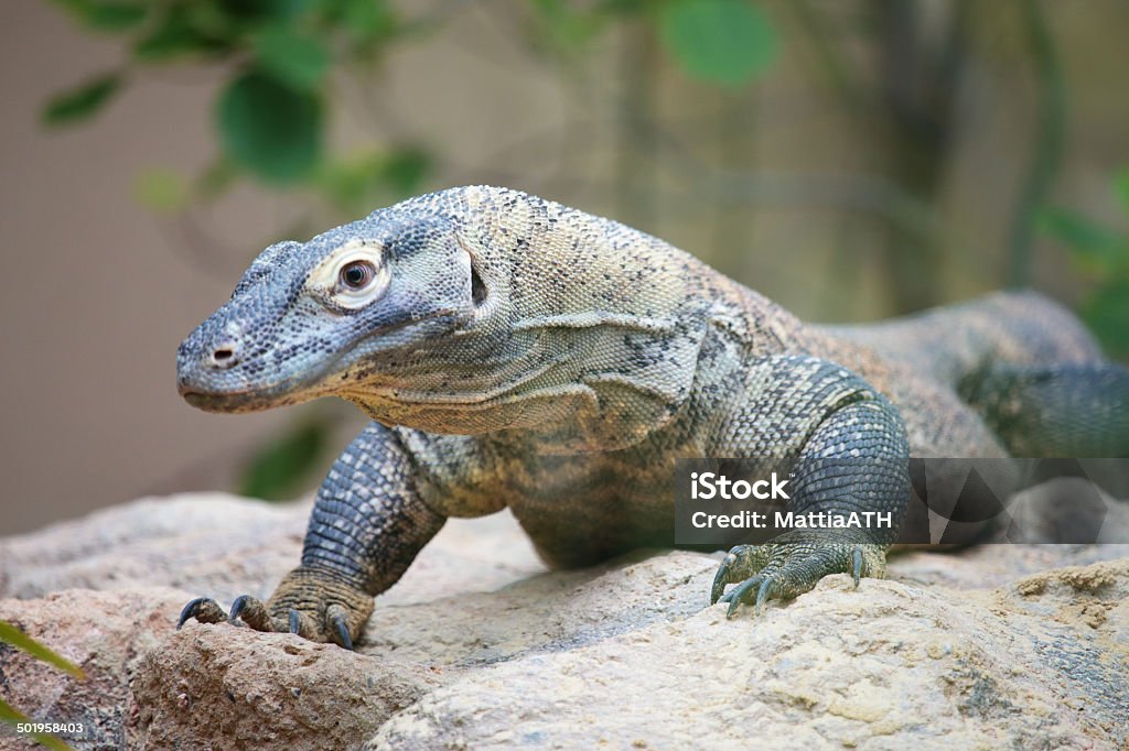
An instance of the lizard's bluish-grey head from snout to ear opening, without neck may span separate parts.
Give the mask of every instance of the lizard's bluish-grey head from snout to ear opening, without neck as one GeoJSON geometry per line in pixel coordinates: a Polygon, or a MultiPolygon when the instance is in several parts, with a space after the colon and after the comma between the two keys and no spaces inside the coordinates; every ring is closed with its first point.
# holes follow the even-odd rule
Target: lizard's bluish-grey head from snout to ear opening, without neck
{"type": "Polygon", "coordinates": [[[448,218],[393,209],[266,248],[181,344],[181,395],[251,412],[427,368],[428,347],[473,324],[482,285],[448,218]]]}

